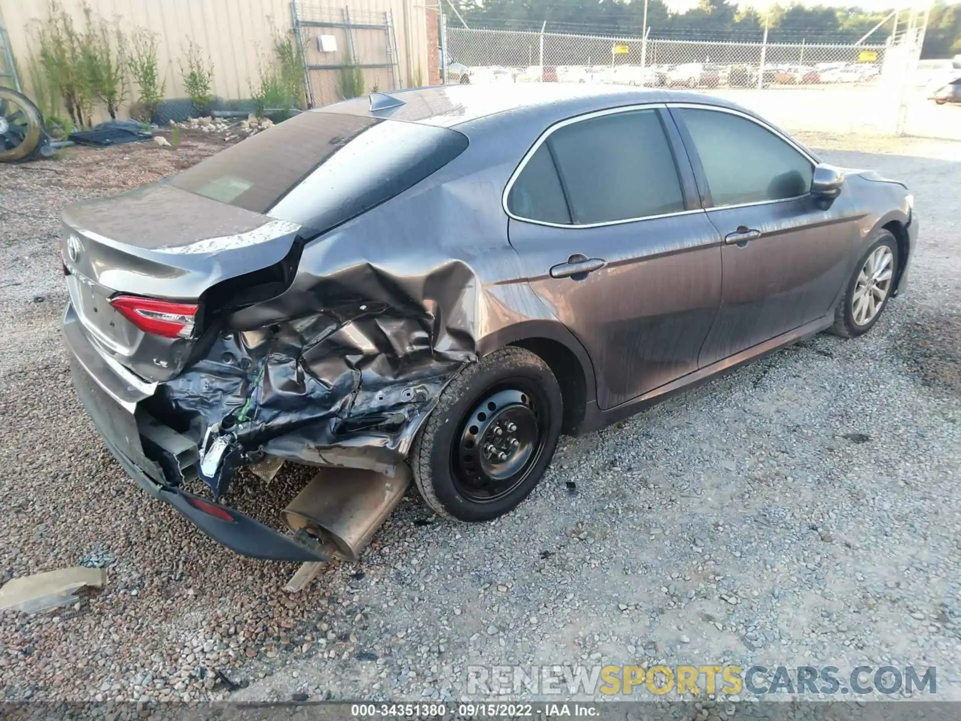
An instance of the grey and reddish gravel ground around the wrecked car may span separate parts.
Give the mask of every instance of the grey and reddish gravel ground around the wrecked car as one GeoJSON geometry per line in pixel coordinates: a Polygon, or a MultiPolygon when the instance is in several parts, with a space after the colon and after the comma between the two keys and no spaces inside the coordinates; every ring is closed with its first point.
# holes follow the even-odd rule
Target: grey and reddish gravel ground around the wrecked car
{"type": "MultiPolygon", "coordinates": [[[[440,522],[411,491],[357,563],[295,595],[295,566],[218,547],[126,478],[58,335],[62,208],[218,146],[0,167],[0,582],[110,574],[75,607],[0,615],[0,698],[439,700],[465,695],[468,665],[661,660],[934,664],[939,698],[961,698],[961,145],[802,139],[915,192],[910,290],[871,334],[562,439],[498,521],[440,522]]],[[[232,500],[273,513],[307,475],[232,500]]]]}

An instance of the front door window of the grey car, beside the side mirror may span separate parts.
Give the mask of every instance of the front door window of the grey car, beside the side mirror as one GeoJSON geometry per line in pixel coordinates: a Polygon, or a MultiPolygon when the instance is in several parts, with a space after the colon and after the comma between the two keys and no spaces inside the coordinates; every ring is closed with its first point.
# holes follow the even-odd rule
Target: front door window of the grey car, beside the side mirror
{"type": "Polygon", "coordinates": [[[814,165],[782,138],[730,112],[680,108],[715,207],[784,200],[811,189],[814,165]]]}

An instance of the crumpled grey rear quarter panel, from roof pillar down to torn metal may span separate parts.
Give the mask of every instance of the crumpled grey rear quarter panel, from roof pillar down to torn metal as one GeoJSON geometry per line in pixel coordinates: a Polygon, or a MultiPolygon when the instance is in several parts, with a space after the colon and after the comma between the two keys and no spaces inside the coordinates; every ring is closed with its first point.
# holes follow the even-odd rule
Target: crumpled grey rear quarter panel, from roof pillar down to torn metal
{"type": "Polygon", "coordinates": [[[226,317],[151,410],[198,442],[230,417],[246,453],[391,472],[484,338],[555,320],[506,239],[509,157],[465,152],[308,242],[291,286],[226,317]]]}

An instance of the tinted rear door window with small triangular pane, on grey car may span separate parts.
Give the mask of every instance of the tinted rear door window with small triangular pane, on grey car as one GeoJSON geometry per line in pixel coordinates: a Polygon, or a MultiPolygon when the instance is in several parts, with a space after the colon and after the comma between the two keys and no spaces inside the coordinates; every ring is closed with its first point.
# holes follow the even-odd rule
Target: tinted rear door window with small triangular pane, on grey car
{"type": "Polygon", "coordinates": [[[511,187],[508,209],[574,225],[683,211],[678,168],[658,113],[618,112],[558,128],[511,187]]]}

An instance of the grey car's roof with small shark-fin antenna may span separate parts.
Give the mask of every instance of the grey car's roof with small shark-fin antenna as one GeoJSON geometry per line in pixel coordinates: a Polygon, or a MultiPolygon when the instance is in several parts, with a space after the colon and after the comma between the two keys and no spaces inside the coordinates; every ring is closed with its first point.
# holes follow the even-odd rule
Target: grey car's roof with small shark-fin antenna
{"type": "Polygon", "coordinates": [[[629,86],[595,86],[582,83],[519,83],[416,87],[390,91],[404,105],[371,111],[367,96],[345,100],[315,112],[343,112],[349,115],[405,120],[453,128],[480,118],[509,112],[530,112],[538,108],[563,115],[616,108],[623,105],[663,103],[672,100],[704,105],[736,107],[702,93],[668,93],[659,89],[629,86]]]}

